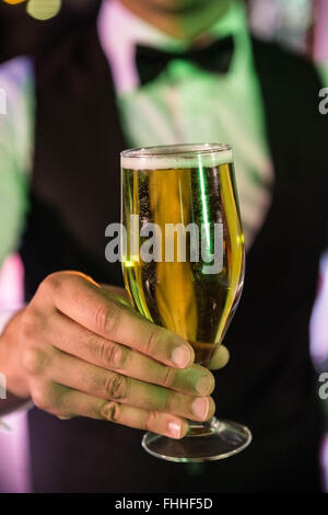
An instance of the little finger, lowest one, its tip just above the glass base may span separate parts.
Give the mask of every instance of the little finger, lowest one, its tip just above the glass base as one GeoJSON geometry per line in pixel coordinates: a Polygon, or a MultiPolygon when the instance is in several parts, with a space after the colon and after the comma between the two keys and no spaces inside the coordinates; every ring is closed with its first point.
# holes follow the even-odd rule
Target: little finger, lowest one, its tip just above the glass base
{"type": "Polygon", "coordinates": [[[87,416],[151,431],[171,438],[181,438],[188,431],[187,420],[169,413],[141,410],[116,401],[108,402],[65,387],[61,391],[60,408],[54,410],[61,419],[87,416]]]}

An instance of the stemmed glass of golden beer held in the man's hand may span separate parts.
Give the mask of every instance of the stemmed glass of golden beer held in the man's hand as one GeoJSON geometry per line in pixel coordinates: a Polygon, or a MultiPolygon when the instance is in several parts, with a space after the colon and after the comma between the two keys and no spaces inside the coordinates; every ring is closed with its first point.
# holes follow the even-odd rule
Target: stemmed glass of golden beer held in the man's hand
{"type": "MultiPolygon", "coordinates": [[[[174,145],[121,152],[121,262],[136,309],[188,341],[207,367],[241,298],[245,248],[232,149],[174,145]]],[[[180,439],[147,433],[171,461],[210,461],[244,449],[247,427],[189,421],[180,439]]]]}

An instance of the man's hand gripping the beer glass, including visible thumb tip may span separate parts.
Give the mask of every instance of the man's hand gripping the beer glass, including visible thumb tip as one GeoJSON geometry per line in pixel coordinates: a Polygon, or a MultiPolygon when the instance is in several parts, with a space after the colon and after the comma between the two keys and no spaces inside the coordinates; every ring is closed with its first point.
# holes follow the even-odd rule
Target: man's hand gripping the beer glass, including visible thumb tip
{"type": "MultiPolygon", "coordinates": [[[[60,419],[83,415],[180,438],[187,419],[214,413],[214,378],[194,364],[191,345],[78,272],[48,276],[1,347],[0,358],[5,350],[11,356],[9,389],[60,419]]],[[[211,367],[226,360],[221,347],[211,367]]]]}

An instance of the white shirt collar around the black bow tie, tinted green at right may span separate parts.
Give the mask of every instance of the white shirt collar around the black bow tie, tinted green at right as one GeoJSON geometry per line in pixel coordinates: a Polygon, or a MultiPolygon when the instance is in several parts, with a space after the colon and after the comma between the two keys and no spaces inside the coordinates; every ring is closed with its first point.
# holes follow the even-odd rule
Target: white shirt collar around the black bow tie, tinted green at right
{"type": "MultiPolygon", "coordinates": [[[[187,43],[147,23],[122,5],[119,0],[103,0],[97,30],[119,94],[134,90],[140,85],[134,64],[137,44],[171,52],[181,52],[188,48],[187,43]]],[[[247,56],[250,48],[245,8],[242,2],[233,0],[226,13],[207,33],[214,37],[234,36],[235,52],[230,73],[242,70],[248,61],[247,56]]]]}

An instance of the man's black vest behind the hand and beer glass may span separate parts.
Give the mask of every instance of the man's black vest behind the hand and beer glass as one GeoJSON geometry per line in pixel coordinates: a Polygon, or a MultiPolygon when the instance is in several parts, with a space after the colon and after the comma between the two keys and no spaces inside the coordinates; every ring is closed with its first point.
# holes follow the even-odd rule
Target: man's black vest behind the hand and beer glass
{"type": "MultiPolygon", "coordinates": [[[[253,46],[276,183],[225,336],[231,363],[215,373],[213,397],[216,414],[247,423],[254,443],[238,457],[192,468],[148,456],[139,431],[63,422],[35,409],[30,428],[37,491],[318,485],[320,417],[308,321],[326,237],[328,124],[318,113],[320,82],[312,65],[270,44],[253,46]]],[[[63,268],[121,285],[119,264],[105,260],[105,227],[119,221],[119,151],[129,144],[95,25],[36,59],[36,87],[31,213],[21,250],[26,298],[46,275],[63,268]]]]}

